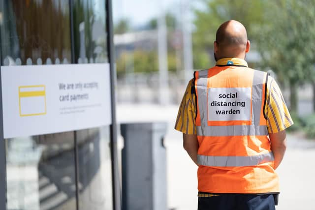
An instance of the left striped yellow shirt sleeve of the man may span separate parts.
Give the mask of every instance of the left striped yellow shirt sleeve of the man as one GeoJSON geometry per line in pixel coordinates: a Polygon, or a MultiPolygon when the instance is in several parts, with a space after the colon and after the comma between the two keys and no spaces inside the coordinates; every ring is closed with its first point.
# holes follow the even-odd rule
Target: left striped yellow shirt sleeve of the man
{"type": "Polygon", "coordinates": [[[188,83],[175,122],[175,129],[185,134],[196,134],[196,101],[195,95],[191,93],[192,81],[188,83]]]}

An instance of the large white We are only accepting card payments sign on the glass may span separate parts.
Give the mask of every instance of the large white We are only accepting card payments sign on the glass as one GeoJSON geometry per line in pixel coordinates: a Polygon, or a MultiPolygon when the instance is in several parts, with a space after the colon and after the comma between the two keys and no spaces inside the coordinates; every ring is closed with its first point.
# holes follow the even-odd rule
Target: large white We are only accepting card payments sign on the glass
{"type": "Polygon", "coordinates": [[[108,63],[1,66],[4,138],[111,124],[108,63]]]}

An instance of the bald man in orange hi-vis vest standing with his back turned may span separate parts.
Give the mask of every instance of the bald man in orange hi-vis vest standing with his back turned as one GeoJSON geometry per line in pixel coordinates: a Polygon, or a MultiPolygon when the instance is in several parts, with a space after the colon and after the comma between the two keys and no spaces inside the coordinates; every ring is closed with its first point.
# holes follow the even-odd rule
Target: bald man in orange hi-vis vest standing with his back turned
{"type": "Polygon", "coordinates": [[[198,210],[275,210],[275,170],[293,124],[282,93],[266,72],[248,67],[245,27],[223,23],[216,66],[194,72],[175,129],[198,166],[198,210]]]}

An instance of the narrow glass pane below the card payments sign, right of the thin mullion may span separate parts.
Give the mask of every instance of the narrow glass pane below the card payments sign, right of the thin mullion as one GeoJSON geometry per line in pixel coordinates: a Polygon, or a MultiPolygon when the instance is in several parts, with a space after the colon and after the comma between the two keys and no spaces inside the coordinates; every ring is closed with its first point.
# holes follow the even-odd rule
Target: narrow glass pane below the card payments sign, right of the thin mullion
{"type": "Polygon", "coordinates": [[[109,126],[79,130],[79,208],[112,210],[109,126]]]}

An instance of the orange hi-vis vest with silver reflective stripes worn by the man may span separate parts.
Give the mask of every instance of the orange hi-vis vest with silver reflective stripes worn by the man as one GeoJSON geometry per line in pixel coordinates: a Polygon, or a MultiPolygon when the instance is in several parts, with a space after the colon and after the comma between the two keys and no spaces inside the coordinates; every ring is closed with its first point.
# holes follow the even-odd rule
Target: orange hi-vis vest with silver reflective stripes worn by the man
{"type": "Polygon", "coordinates": [[[199,192],[279,192],[264,114],[267,80],[241,65],[194,73],[199,192]]]}

